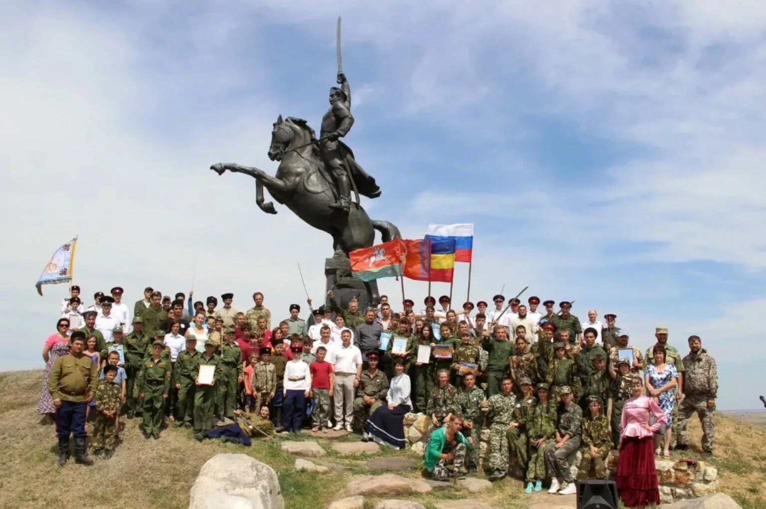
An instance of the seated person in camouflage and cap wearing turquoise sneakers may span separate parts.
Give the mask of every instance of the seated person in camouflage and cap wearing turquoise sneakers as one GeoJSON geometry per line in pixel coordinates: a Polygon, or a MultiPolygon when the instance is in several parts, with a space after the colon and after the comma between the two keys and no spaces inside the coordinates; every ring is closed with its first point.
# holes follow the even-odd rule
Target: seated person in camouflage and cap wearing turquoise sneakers
{"type": "Polygon", "coordinates": [[[555,438],[556,402],[548,399],[548,384],[537,384],[538,403],[532,412],[527,429],[529,436],[529,468],[527,468],[526,493],[542,490],[542,480],[547,476],[545,447],[555,438]],[[532,482],[535,485],[532,486],[532,482]]]}

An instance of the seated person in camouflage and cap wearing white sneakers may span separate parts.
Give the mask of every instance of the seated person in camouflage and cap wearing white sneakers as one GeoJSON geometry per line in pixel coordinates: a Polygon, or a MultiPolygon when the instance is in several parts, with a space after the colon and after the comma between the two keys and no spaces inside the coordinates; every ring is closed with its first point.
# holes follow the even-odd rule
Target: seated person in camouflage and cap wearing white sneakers
{"type": "Polygon", "coordinates": [[[568,455],[580,448],[582,438],[582,409],[575,404],[575,393],[570,387],[561,387],[558,391],[564,413],[558,417],[555,442],[545,446],[545,466],[551,475],[551,488],[548,493],[575,494],[575,479],[572,478],[568,455]]]}

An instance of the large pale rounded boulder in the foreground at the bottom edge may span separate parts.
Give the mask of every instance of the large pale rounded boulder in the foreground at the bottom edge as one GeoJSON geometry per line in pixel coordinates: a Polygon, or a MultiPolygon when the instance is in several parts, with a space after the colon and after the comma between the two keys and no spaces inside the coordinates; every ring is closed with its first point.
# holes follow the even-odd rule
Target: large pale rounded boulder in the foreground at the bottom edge
{"type": "Polygon", "coordinates": [[[189,491],[189,509],[212,507],[284,509],[277,472],[246,454],[214,455],[189,491]]]}

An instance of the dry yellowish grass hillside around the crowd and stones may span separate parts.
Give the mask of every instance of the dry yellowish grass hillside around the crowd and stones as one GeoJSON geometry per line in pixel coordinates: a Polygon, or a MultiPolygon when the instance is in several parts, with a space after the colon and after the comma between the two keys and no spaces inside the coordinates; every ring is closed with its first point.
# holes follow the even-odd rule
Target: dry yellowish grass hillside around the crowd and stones
{"type": "MultiPolygon", "coordinates": [[[[345,473],[327,475],[295,472],[295,457],[280,451],[279,441],[256,442],[250,448],[195,442],[191,432],[169,429],[159,441],[142,438],[136,419],[126,421],[123,443],[110,460],[96,460],[93,467],[56,465],[53,426],[41,426],[36,414],[42,371],[0,374],[0,509],[33,507],[83,507],[90,509],[162,509],[188,507],[188,491],[199,469],[219,452],[244,452],[271,465],[280,478],[286,507],[319,509],[342,498],[353,475],[370,473],[364,459],[339,458],[322,444],[328,455],[319,462],[349,467],[345,473]]],[[[722,491],[732,495],[745,509],[766,507],[766,427],[752,426],[727,416],[718,416],[717,452],[705,458],[720,468],[722,491]]],[[[692,426],[694,450],[699,453],[699,423],[692,426]]],[[[411,452],[384,451],[382,455],[414,458],[411,452]]],[[[417,458],[414,458],[417,459],[417,458]]],[[[417,475],[412,472],[411,476],[417,475]]],[[[414,500],[426,507],[444,498],[468,498],[467,494],[431,492],[414,500]]],[[[524,507],[520,481],[506,480],[480,495],[472,495],[498,507],[524,507]]],[[[369,500],[368,507],[375,501],[369,500]]]]}

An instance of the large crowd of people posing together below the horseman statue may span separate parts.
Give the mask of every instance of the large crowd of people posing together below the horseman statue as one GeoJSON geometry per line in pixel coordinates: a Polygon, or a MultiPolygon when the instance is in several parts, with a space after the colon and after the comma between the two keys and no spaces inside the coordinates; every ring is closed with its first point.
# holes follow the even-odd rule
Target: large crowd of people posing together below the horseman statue
{"type": "Polygon", "coordinates": [[[645,352],[596,310],[580,321],[570,302],[527,304],[495,295],[492,304],[443,295],[394,312],[383,295],[376,308],[355,298],[341,305],[301,306],[273,321],[264,295],[234,308],[234,295],[205,302],[146,288],[131,310],[123,289],[97,292],[83,306],[72,286],[46,362],[38,411],[57,428],[59,464],[70,455],[90,465],[110,458],[119,419],[142,419],[146,439],[162,429],[192,429],[195,439],[250,445],[275,433],[309,427],[358,432],[394,449],[407,445],[403,420],[424,413],[433,426],[425,468],[437,480],[480,470],[479,441],[489,429],[488,475],[502,479],[515,458],[525,491],[575,493],[569,464],[580,451],[578,478],[606,478],[607,454],[620,450],[616,481],[629,507],[659,503],[655,456],[686,449],[686,425],[697,413],[702,450],[712,454],[718,377],[702,340],[688,338],[682,356],[656,328],[645,352]],[[642,374],[643,373],[643,374],[642,374]]]}

